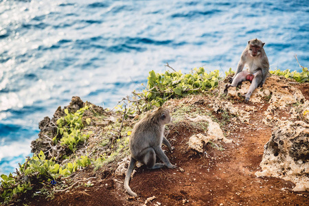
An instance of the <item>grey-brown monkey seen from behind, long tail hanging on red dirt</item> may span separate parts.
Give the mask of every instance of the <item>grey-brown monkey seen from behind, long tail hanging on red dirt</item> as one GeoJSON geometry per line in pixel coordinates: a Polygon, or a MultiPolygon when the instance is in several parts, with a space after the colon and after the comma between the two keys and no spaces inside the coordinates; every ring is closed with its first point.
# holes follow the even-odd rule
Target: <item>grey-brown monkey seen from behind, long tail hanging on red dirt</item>
{"type": "Polygon", "coordinates": [[[130,163],[124,179],[124,188],[131,196],[137,196],[128,185],[137,161],[144,163],[148,169],[163,168],[163,166],[176,168],[176,165],[170,163],[161,149],[161,145],[165,144],[171,152],[173,150],[168,139],[163,136],[164,126],[170,123],[170,120],[170,111],[167,108],[159,107],[152,113],[148,113],[133,127],[129,139],[130,163]],[[156,163],[156,155],[163,163],[156,163]]]}

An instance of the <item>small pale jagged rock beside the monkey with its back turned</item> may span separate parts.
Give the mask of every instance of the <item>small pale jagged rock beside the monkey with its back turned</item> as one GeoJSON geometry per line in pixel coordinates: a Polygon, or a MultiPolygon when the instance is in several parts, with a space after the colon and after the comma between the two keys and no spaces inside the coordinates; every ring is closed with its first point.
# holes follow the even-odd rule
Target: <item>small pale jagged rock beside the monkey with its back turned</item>
{"type": "Polygon", "coordinates": [[[201,122],[206,121],[209,123],[207,129],[207,136],[203,134],[192,135],[189,139],[189,148],[196,150],[198,152],[203,152],[203,142],[207,144],[209,140],[218,141],[221,140],[225,143],[231,143],[231,139],[227,139],[220,128],[220,125],[216,122],[213,122],[209,116],[200,116],[197,115],[195,118],[188,119],[192,122],[201,122]]]}

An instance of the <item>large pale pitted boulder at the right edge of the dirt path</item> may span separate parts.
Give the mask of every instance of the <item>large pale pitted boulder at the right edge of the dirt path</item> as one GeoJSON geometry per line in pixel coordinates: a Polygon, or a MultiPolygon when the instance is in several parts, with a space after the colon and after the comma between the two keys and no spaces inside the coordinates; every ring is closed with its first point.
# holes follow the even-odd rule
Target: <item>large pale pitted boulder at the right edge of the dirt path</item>
{"type": "Polygon", "coordinates": [[[257,176],[275,176],[295,183],[294,191],[309,191],[309,124],[282,122],[264,146],[257,176]]]}

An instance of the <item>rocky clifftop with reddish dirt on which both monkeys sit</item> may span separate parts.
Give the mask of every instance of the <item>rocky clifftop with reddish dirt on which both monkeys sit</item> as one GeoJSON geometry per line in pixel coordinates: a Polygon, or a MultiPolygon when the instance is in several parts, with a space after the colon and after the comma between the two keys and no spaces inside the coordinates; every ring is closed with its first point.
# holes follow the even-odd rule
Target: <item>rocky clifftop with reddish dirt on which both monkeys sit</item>
{"type": "Polygon", "coordinates": [[[165,137],[175,148],[166,154],[178,168],[148,170],[137,165],[130,180],[137,198],[125,192],[123,181],[130,130],[144,113],[111,111],[73,97],[69,106],[41,122],[32,151],[43,150],[60,165],[81,157],[88,157],[89,163],[65,178],[58,176],[55,184],[37,187],[17,204],[306,205],[309,84],[290,81],[269,77],[249,102],[242,97],[249,82],[225,96],[224,81],[211,91],[165,102],[172,115],[165,137]],[[68,119],[84,106],[80,134],[87,134],[87,140],[71,150],[62,144],[66,139],[57,129],[58,119],[68,119]],[[33,195],[46,190],[52,198],[33,195]]]}

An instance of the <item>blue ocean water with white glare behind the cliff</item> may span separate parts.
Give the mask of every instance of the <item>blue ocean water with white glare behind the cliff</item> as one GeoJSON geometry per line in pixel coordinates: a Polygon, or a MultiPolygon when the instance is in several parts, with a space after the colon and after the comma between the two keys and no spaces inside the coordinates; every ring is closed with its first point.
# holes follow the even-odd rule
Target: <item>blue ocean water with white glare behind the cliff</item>
{"type": "Polygon", "coordinates": [[[271,69],[309,66],[309,1],[0,1],[0,174],[73,95],[113,107],[148,72],[236,70],[251,38],[271,69]]]}

